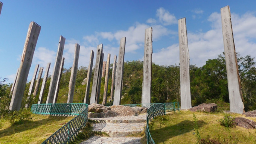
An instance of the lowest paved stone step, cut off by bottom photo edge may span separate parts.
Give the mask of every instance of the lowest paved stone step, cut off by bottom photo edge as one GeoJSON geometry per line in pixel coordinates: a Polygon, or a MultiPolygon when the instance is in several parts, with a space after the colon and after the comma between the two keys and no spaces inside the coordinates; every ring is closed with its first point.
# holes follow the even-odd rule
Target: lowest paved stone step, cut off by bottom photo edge
{"type": "Polygon", "coordinates": [[[87,141],[83,141],[80,144],[141,144],[140,139],[142,137],[101,137],[92,136],[87,141]]]}

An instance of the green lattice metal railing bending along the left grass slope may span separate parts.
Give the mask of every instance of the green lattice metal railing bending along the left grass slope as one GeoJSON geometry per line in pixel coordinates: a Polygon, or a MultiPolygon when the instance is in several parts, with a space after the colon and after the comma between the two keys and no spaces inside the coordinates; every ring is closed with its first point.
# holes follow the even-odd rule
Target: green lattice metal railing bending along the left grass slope
{"type": "Polygon", "coordinates": [[[85,127],[88,120],[88,105],[84,103],[35,104],[31,107],[34,114],[70,116],[77,115],[58,129],[42,144],[67,144],[76,138],[79,130],[85,127]]]}

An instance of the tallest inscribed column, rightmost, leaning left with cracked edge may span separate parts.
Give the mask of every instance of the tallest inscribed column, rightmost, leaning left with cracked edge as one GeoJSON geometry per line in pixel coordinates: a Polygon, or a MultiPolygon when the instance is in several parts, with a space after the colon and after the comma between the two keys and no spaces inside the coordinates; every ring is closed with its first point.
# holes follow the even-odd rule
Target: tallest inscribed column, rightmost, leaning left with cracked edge
{"type": "Polygon", "coordinates": [[[242,114],[244,112],[244,103],[242,102],[242,92],[229,6],[221,8],[221,21],[224,52],[226,57],[230,111],[242,114]]]}

